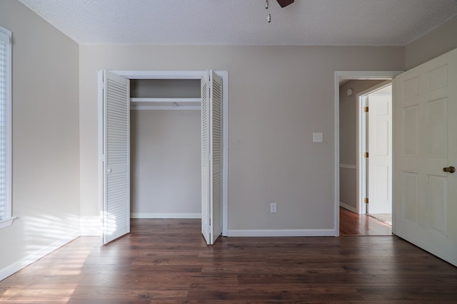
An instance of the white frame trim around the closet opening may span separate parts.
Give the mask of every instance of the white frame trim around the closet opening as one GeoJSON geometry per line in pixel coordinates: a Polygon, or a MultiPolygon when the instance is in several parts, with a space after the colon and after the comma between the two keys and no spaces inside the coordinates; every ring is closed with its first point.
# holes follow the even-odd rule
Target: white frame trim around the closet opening
{"type": "MultiPolygon", "coordinates": [[[[201,79],[206,70],[109,70],[111,73],[127,79],[201,79]]],[[[229,72],[227,70],[214,70],[222,78],[222,235],[228,235],[229,219],[229,72]]],[[[99,90],[100,91],[100,90],[99,90]]],[[[100,93],[99,93],[100,94],[100,93]]],[[[99,96],[100,98],[100,96],[99,96]]],[[[99,113],[103,110],[99,105],[99,113]]],[[[99,211],[103,210],[103,122],[99,120],[99,211]]]]}

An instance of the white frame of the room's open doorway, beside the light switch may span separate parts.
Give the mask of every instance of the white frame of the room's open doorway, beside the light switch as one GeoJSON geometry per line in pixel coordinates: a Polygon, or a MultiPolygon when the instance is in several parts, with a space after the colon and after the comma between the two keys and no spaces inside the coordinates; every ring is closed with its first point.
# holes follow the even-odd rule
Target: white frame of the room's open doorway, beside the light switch
{"type": "MultiPolygon", "coordinates": [[[[393,80],[396,75],[403,73],[403,70],[344,70],[344,71],[335,71],[334,73],[334,82],[333,82],[333,92],[334,92],[334,104],[333,104],[333,131],[335,134],[334,142],[334,172],[333,182],[335,184],[334,189],[334,217],[333,225],[335,228],[335,236],[340,235],[340,81],[341,80],[393,80]]],[[[392,83],[393,85],[393,83],[392,83]]],[[[392,126],[392,132],[394,126],[392,126]]],[[[394,201],[392,201],[394,204],[394,201]]],[[[393,229],[393,227],[392,227],[393,229]]]]}

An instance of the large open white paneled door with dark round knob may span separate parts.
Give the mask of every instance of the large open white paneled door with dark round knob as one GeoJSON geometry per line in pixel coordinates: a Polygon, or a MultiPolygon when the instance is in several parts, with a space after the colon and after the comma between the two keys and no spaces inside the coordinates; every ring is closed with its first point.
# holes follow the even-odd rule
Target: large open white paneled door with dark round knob
{"type": "Polygon", "coordinates": [[[395,223],[457,266],[457,49],[395,80],[395,223]]]}

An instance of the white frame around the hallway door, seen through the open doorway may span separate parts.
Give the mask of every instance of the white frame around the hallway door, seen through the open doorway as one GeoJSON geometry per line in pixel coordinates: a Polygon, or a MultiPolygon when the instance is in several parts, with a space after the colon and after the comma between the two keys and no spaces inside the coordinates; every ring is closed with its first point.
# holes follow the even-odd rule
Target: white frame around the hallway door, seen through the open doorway
{"type": "MultiPolygon", "coordinates": [[[[368,189],[367,179],[366,176],[368,174],[368,170],[366,167],[365,162],[363,162],[363,152],[367,150],[366,147],[366,128],[367,128],[367,121],[366,115],[363,115],[363,102],[365,101],[363,98],[367,95],[371,95],[373,92],[380,90],[382,88],[386,88],[388,85],[392,85],[392,80],[386,80],[382,83],[378,83],[377,85],[373,85],[372,87],[363,90],[356,95],[357,100],[357,107],[356,107],[356,120],[357,120],[357,136],[356,136],[356,157],[357,157],[357,205],[356,211],[358,214],[366,214],[366,204],[363,203],[363,198],[366,197],[366,189],[368,189]]],[[[393,91],[392,94],[393,96],[393,91]]],[[[390,113],[391,120],[393,120],[392,112],[390,113]]],[[[392,141],[393,142],[393,141],[392,141]]],[[[391,145],[391,153],[393,152],[393,147],[391,145]]],[[[393,172],[392,172],[393,174],[393,172]]],[[[369,181],[368,181],[369,182],[369,181]]]]}

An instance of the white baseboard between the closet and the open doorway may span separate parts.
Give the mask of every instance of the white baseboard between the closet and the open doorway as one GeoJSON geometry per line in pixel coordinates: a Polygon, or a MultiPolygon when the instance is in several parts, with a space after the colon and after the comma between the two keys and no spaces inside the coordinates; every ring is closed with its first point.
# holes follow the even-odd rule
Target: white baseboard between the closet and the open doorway
{"type": "Polygon", "coordinates": [[[334,229],[229,230],[228,236],[336,236],[334,229]]]}

